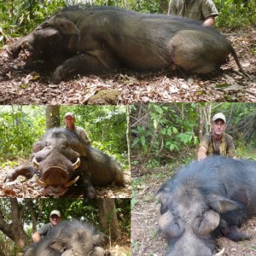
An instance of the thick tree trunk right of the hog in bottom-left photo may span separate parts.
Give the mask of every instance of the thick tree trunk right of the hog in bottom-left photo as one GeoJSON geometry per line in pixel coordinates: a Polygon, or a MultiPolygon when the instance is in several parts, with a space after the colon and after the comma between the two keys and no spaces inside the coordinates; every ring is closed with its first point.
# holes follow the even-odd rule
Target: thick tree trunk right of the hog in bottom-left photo
{"type": "Polygon", "coordinates": [[[116,214],[115,201],[113,198],[97,198],[99,210],[100,226],[105,234],[108,234],[111,240],[117,240],[120,237],[119,224],[116,214]]]}

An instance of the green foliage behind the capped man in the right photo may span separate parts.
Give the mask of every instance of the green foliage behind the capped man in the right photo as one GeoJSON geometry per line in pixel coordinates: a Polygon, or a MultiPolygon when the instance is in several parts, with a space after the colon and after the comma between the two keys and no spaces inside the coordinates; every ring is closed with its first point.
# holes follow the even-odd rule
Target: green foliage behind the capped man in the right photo
{"type": "MultiPolygon", "coordinates": [[[[136,123],[131,130],[132,165],[155,168],[177,160],[185,163],[195,159],[199,143],[199,120],[205,115],[207,120],[211,120],[213,114],[218,112],[224,113],[227,119],[226,132],[234,139],[237,155],[247,157],[247,149],[256,146],[256,104],[215,102],[211,104],[209,113],[208,110],[200,111],[207,106],[204,103],[132,106],[131,116],[136,123]]],[[[203,135],[207,132],[208,121],[202,125],[203,135]]]]}

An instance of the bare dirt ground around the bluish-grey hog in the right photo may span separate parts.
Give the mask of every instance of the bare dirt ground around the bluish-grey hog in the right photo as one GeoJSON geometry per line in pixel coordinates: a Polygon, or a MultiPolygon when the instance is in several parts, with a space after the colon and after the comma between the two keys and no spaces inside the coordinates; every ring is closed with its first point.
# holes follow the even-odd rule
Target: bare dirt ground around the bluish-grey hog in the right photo
{"type": "MultiPolygon", "coordinates": [[[[166,255],[167,243],[159,231],[160,205],[155,195],[160,189],[160,185],[168,177],[170,177],[169,167],[156,168],[138,179],[134,177],[137,181],[133,181],[132,186],[132,255],[166,255]]],[[[247,230],[252,238],[247,241],[235,242],[225,237],[219,237],[216,241],[216,253],[224,248],[225,256],[256,255],[256,217],[244,224],[241,230],[247,230]]]]}

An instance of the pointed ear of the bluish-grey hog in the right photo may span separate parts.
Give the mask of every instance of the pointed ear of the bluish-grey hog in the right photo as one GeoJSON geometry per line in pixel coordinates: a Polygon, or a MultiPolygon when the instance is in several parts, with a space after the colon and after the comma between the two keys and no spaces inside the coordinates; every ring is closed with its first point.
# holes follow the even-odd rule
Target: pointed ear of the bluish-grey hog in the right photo
{"type": "Polygon", "coordinates": [[[210,206],[216,212],[229,212],[242,208],[241,204],[237,201],[232,201],[222,196],[211,195],[209,199],[210,206]]]}

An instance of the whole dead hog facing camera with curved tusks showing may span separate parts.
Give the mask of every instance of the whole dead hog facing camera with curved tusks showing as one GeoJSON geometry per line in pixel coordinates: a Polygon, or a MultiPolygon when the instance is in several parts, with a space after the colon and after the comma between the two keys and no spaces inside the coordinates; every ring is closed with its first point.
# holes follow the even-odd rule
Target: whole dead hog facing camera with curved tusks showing
{"type": "Polygon", "coordinates": [[[59,197],[73,183],[80,183],[85,197],[96,197],[93,185],[124,185],[119,163],[107,154],[88,146],[67,128],[53,128],[33,145],[32,166],[20,166],[8,172],[5,182],[19,175],[35,177],[45,192],[59,197]]]}

